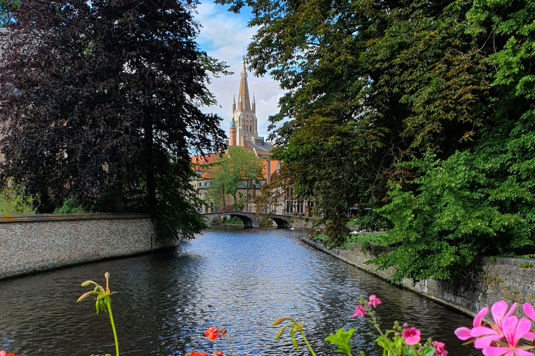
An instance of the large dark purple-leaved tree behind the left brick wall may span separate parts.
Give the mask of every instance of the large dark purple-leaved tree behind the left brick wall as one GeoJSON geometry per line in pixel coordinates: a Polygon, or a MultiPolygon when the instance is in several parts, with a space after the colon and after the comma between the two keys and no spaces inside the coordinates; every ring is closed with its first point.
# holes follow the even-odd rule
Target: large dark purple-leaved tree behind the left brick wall
{"type": "Polygon", "coordinates": [[[3,175],[52,211],[75,196],[100,211],[145,211],[160,236],[191,237],[189,149],[223,147],[189,1],[24,1],[0,63],[3,175]],[[5,88],[5,89],[4,89],[5,88]],[[15,94],[14,94],[15,93],[15,94]]]}

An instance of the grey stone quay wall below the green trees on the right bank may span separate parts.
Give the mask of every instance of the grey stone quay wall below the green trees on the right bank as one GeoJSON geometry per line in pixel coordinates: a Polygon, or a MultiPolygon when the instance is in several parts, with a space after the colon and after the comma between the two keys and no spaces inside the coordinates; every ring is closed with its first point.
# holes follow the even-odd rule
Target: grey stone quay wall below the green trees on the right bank
{"type": "MultiPolygon", "coordinates": [[[[354,243],[348,250],[332,249],[323,246],[319,240],[302,241],[327,254],[346,261],[348,264],[366,270],[383,280],[390,281],[395,273],[394,267],[378,270],[373,264],[366,264],[377,253],[387,253],[384,249],[370,246],[362,251],[362,245],[354,243]]],[[[535,302],[535,259],[483,258],[474,263],[465,275],[451,281],[423,280],[413,283],[405,279],[398,285],[410,289],[444,305],[474,316],[479,310],[499,300],[523,303],[535,302]],[[530,265],[531,264],[531,265],[530,265]],[[529,267],[532,266],[532,267],[529,267]]]]}

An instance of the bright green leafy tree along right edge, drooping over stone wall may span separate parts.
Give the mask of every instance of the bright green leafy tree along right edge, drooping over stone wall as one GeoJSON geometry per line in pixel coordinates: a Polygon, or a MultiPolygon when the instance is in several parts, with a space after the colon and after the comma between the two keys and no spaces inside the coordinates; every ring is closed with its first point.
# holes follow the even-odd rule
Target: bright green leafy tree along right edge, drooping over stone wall
{"type": "MultiPolygon", "coordinates": [[[[413,188],[395,186],[380,211],[394,223],[387,241],[401,244],[374,263],[396,266],[395,279],[447,279],[477,254],[511,255],[534,245],[535,5],[474,2],[466,14],[474,37],[492,38],[488,124],[471,149],[447,159],[424,157],[413,188]]],[[[529,251],[529,249],[528,249],[529,251]]]]}

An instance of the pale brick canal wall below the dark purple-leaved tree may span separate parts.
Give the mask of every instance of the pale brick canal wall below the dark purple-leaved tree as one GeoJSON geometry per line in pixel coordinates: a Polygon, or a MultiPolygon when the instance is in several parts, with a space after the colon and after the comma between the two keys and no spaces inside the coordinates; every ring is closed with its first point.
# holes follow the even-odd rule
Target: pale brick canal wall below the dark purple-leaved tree
{"type": "Polygon", "coordinates": [[[0,215],[0,278],[176,245],[155,234],[145,214],[0,215]]]}

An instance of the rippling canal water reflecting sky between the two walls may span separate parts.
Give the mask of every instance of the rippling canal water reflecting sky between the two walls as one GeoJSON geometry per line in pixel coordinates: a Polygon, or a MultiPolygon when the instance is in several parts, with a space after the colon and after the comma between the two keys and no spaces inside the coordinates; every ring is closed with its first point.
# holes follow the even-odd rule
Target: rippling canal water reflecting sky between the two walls
{"type": "Polygon", "coordinates": [[[293,316],[318,355],[334,355],[323,341],[340,327],[354,327],[353,355],[380,355],[371,324],[350,318],[359,296],[375,294],[381,323],[408,322],[446,343],[449,355],[481,355],[461,346],[453,330],[472,325],[463,314],[398,289],[313,250],[290,229],[220,227],[172,252],[101,261],[0,281],[0,350],[21,356],[114,355],[106,314],[92,299],[77,303],[89,287],[111,274],[112,308],[121,355],[186,355],[224,347],[203,337],[227,327],[233,355],[309,355],[293,349],[288,334],[274,341],[272,321],[293,316]]]}

